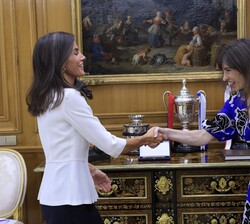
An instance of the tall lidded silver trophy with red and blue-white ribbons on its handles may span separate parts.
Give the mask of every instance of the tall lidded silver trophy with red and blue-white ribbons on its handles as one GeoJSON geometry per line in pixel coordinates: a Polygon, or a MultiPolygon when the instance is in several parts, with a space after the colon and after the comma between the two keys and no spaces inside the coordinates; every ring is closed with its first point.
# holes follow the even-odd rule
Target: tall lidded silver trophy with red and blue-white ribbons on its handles
{"type": "MultiPolygon", "coordinates": [[[[174,97],[174,105],[175,105],[175,110],[176,110],[178,120],[182,124],[182,130],[186,131],[186,130],[189,130],[189,124],[193,122],[195,119],[195,116],[196,116],[195,105],[199,99],[189,93],[189,90],[186,88],[185,79],[182,80],[182,85],[183,86],[180,90],[180,94],[174,97]]],[[[203,90],[200,90],[199,92],[204,94],[203,90]]],[[[167,108],[166,103],[165,103],[166,93],[171,94],[171,92],[166,91],[163,94],[163,102],[164,102],[165,107],[167,108]]],[[[197,152],[197,151],[200,151],[200,147],[175,143],[174,151],[175,152],[197,152]]]]}

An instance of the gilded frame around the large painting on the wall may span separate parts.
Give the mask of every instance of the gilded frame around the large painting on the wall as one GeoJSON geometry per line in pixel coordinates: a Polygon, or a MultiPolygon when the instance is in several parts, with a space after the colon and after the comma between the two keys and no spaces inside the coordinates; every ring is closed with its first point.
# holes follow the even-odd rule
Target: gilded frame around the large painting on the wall
{"type": "MultiPolygon", "coordinates": [[[[79,48],[82,48],[82,13],[81,1],[72,0],[72,27],[79,48]]],[[[246,36],[246,0],[237,0],[237,38],[246,36]]],[[[87,85],[125,84],[125,83],[162,83],[190,81],[215,81],[221,79],[217,71],[184,72],[184,73],[151,73],[151,74],[105,74],[88,75],[82,78],[87,85]]]]}

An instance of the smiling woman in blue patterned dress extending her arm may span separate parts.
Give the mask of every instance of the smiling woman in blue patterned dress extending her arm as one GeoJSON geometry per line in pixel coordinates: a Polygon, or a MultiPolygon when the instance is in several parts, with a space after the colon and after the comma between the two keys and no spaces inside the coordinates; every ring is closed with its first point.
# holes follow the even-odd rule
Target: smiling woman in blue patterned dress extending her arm
{"type": "MultiPolygon", "coordinates": [[[[204,120],[201,130],[182,131],[158,128],[165,139],[202,146],[218,141],[239,139],[250,149],[250,39],[237,39],[223,47],[217,58],[223,81],[231,88],[231,97],[212,120],[204,120]]],[[[250,223],[250,185],[242,223],[250,223]]]]}

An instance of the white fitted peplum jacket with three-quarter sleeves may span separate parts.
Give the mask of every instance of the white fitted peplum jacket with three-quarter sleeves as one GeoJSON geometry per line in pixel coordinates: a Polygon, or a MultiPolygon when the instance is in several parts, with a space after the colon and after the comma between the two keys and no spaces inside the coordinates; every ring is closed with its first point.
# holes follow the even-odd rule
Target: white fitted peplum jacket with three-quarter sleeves
{"type": "Polygon", "coordinates": [[[108,132],[85,98],[65,89],[62,103],[37,117],[46,165],[38,200],[43,205],[92,204],[98,199],[88,167],[90,143],[117,157],[126,140],[108,132]]]}

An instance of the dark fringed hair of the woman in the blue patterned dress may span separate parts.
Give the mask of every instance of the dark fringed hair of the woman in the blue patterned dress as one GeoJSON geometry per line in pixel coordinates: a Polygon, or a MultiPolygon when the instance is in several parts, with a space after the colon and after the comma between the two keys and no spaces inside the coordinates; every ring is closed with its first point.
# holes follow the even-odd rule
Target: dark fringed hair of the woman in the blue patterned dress
{"type": "Polygon", "coordinates": [[[222,70],[223,64],[237,70],[246,80],[243,89],[245,96],[250,96],[250,39],[241,38],[232,41],[220,51],[217,64],[222,70]]]}

